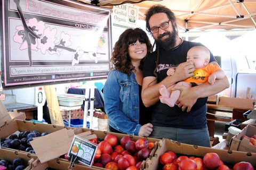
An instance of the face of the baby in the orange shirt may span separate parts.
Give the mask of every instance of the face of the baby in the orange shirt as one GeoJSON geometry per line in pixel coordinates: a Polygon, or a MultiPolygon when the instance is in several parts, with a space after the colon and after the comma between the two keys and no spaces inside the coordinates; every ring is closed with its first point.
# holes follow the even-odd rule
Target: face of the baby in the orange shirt
{"type": "Polygon", "coordinates": [[[189,49],[187,54],[187,62],[192,61],[194,63],[195,69],[204,67],[207,63],[205,61],[205,55],[201,50],[189,49]]]}

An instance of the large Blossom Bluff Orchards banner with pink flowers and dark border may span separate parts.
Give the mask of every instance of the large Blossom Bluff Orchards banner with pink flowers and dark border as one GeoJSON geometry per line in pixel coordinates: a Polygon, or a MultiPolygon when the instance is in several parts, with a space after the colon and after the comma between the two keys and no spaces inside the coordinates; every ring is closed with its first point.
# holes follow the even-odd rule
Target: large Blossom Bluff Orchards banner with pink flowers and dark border
{"type": "Polygon", "coordinates": [[[110,10],[69,0],[2,1],[4,89],[104,79],[110,10]]]}

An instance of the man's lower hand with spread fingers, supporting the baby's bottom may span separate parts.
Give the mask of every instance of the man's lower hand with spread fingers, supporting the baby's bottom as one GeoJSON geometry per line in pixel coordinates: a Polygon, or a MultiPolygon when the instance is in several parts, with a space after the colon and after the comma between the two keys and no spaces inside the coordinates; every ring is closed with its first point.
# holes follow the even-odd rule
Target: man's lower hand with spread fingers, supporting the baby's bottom
{"type": "Polygon", "coordinates": [[[176,104],[182,111],[190,112],[191,107],[196,103],[197,96],[193,91],[193,88],[185,87],[185,86],[175,86],[172,90],[180,90],[180,97],[177,100],[176,104]]]}

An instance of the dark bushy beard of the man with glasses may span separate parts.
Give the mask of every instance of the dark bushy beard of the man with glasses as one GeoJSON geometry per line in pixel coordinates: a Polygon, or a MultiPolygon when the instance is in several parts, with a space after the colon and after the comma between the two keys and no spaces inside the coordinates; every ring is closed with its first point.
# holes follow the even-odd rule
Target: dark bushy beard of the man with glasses
{"type": "Polygon", "coordinates": [[[173,31],[173,32],[164,32],[162,35],[160,35],[157,40],[156,43],[157,45],[159,45],[159,47],[163,48],[164,50],[168,51],[172,48],[175,47],[176,44],[176,35],[177,32],[173,31]],[[162,37],[169,35],[169,37],[165,38],[165,39],[161,39],[162,37]]]}

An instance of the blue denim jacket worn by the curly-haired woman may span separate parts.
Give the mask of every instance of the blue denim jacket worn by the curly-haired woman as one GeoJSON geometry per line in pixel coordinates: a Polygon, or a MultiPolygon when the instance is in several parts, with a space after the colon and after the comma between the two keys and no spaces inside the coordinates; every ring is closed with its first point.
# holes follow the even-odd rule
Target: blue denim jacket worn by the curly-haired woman
{"type": "Polygon", "coordinates": [[[123,133],[139,135],[139,86],[135,74],[111,70],[104,85],[109,125],[123,133]]]}

